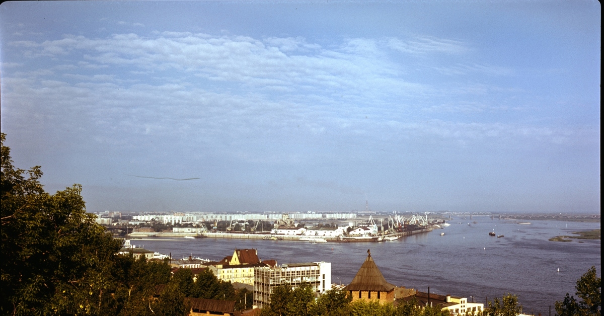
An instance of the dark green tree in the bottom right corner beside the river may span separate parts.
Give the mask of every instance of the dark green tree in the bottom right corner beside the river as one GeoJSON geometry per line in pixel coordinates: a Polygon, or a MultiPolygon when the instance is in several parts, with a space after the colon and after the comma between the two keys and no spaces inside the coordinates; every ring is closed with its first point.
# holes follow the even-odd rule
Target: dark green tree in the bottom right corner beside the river
{"type": "Polygon", "coordinates": [[[563,301],[556,301],[554,306],[559,316],[600,315],[602,309],[602,278],[596,274],[596,267],[591,268],[577,280],[575,286],[578,301],[568,293],[563,301]]]}

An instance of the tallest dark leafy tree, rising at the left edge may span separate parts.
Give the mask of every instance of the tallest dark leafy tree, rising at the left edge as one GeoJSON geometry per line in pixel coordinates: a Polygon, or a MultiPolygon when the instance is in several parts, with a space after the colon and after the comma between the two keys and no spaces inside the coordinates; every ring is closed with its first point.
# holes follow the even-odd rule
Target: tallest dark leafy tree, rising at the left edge
{"type": "Polygon", "coordinates": [[[109,280],[99,272],[120,250],[120,240],[86,213],[81,185],[44,192],[40,167],[15,169],[4,141],[2,133],[0,311],[41,315],[88,308],[74,301],[80,297],[76,292],[87,287],[104,292],[109,280]]]}

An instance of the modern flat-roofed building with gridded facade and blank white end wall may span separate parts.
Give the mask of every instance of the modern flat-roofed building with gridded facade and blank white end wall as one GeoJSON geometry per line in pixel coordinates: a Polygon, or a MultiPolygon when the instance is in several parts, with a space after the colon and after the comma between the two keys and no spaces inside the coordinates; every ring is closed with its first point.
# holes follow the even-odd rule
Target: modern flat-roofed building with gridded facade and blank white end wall
{"type": "Polygon", "coordinates": [[[271,304],[274,288],[281,285],[297,288],[302,284],[312,286],[316,293],[332,288],[330,262],[290,263],[281,266],[264,266],[254,269],[254,305],[265,308],[271,304]]]}

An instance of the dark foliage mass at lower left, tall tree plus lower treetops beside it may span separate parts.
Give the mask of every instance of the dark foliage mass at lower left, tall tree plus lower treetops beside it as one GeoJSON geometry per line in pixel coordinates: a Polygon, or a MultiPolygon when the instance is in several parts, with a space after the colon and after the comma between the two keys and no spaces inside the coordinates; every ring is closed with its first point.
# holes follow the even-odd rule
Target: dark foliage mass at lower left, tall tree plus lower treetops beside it
{"type": "Polygon", "coordinates": [[[15,168],[4,141],[0,314],[185,315],[178,289],[154,297],[167,263],[118,255],[121,241],[86,213],[82,186],[50,195],[40,167],[15,168]]]}

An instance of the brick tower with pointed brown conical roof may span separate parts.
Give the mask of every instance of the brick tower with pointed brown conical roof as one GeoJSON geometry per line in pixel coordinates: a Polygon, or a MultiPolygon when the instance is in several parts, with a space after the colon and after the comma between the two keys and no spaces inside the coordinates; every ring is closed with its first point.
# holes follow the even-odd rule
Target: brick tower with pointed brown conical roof
{"type": "Polygon", "coordinates": [[[367,259],[356,272],[352,282],[344,289],[350,292],[352,300],[378,300],[380,303],[394,301],[394,289],[396,286],[388,283],[382,272],[379,271],[371,253],[367,250],[367,259]]]}

